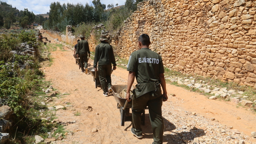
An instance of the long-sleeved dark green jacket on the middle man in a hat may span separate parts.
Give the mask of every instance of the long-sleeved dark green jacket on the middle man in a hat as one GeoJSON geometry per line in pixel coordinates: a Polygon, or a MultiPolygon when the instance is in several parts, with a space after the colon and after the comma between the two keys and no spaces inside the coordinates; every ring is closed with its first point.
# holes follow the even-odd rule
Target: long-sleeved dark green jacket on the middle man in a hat
{"type": "Polygon", "coordinates": [[[95,48],[95,56],[94,56],[94,64],[93,67],[97,67],[98,65],[111,65],[116,66],[115,56],[113,52],[113,48],[110,44],[101,42],[95,48]]]}

